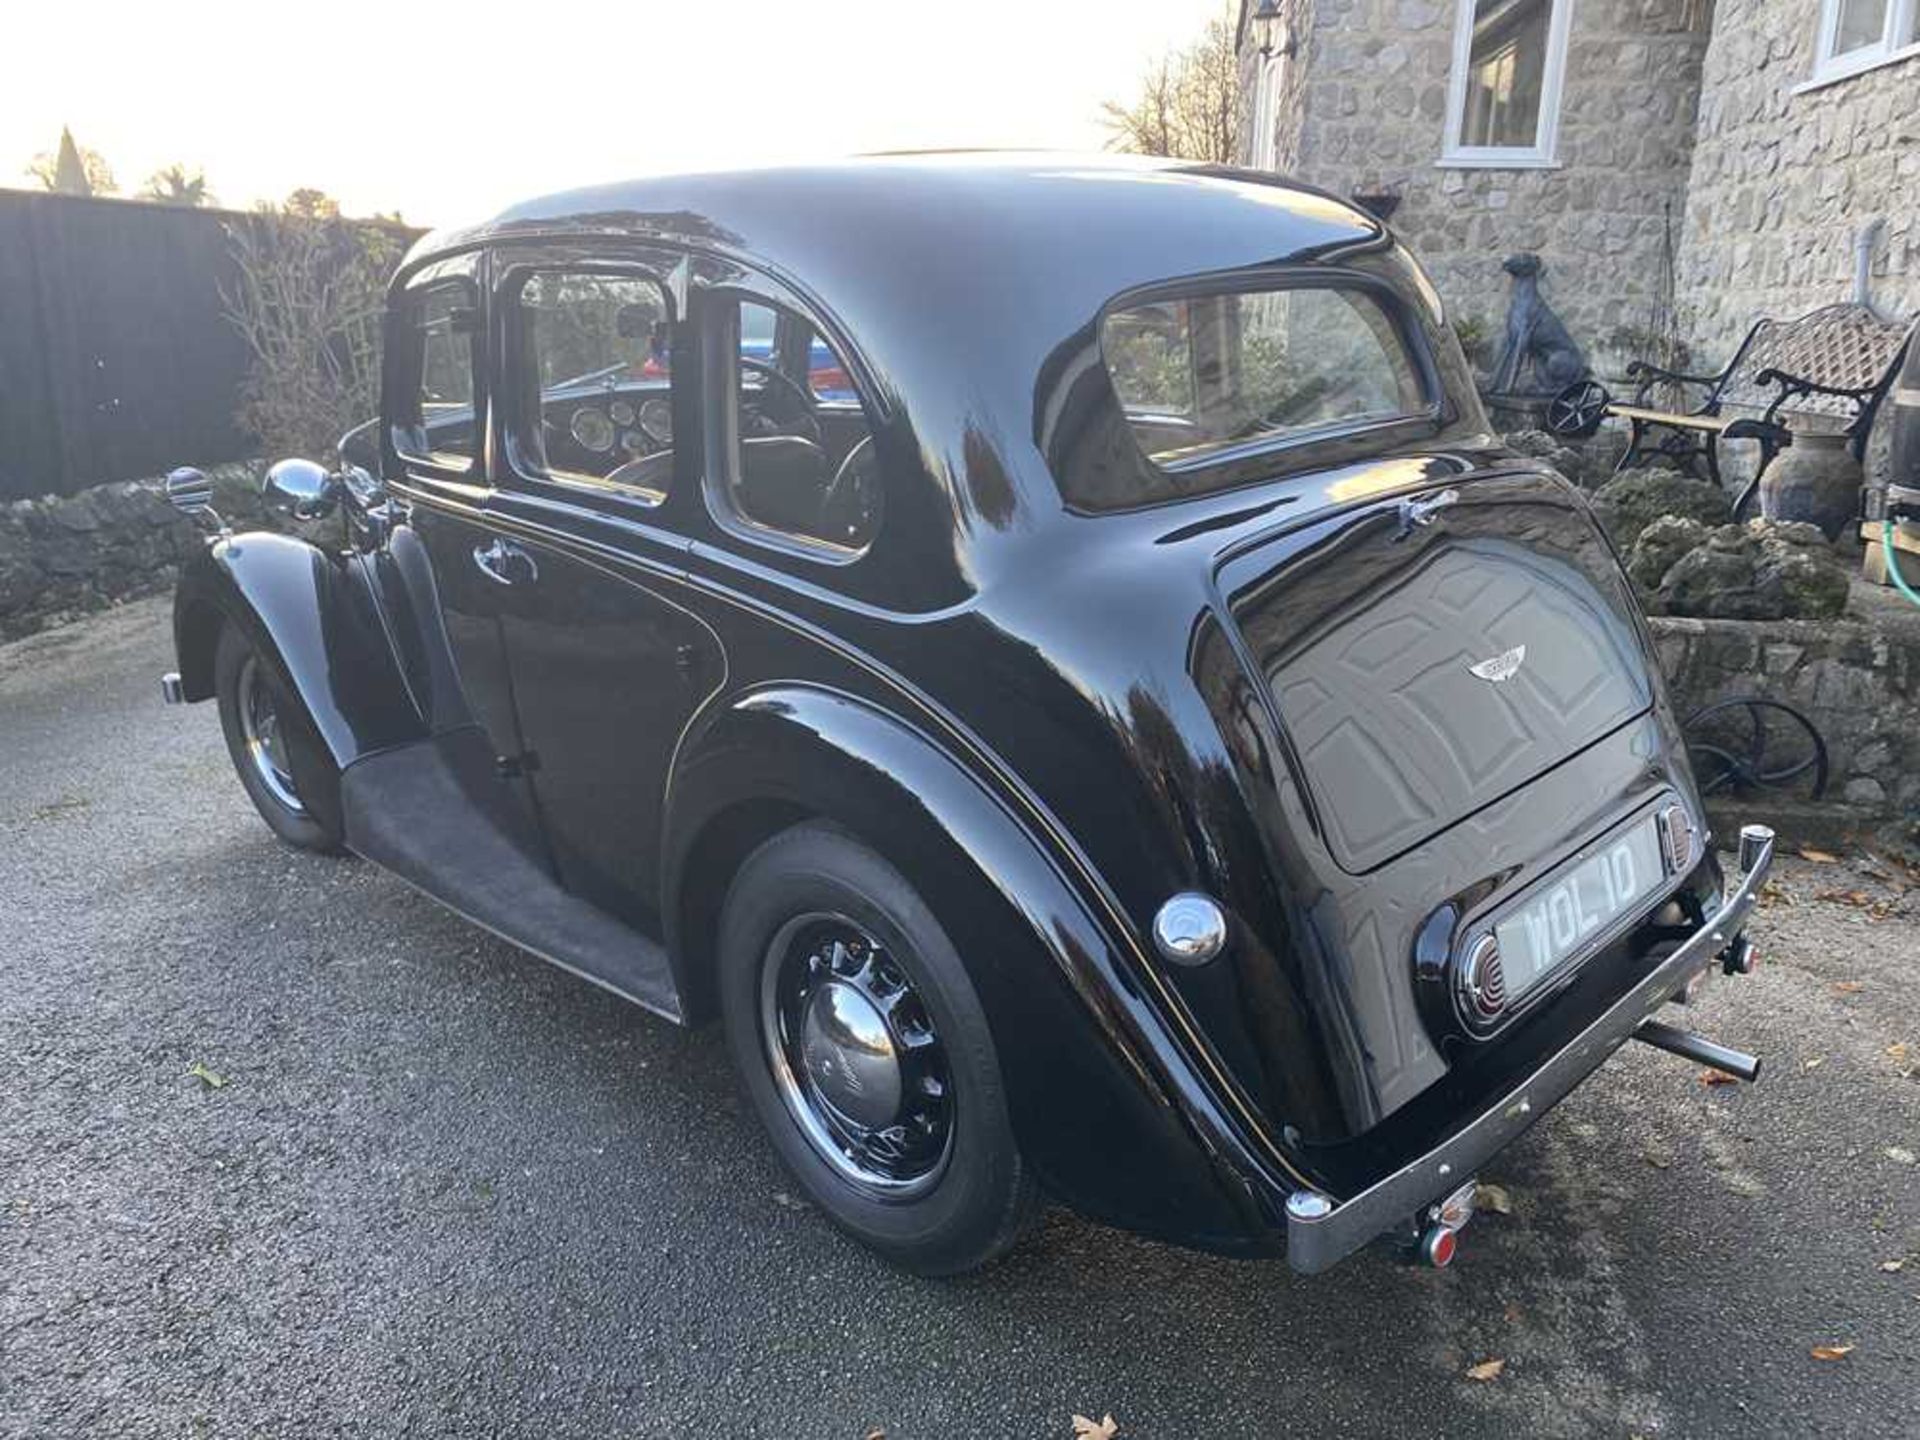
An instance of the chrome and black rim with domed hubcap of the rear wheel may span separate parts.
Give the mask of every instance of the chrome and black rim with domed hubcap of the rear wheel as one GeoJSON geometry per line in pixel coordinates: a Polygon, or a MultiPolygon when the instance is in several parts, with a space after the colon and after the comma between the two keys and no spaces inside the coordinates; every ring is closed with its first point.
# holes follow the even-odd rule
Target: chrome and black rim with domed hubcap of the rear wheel
{"type": "Polygon", "coordinates": [[[760,1037],[787,1114],[843,1181],[877,1200],[939,1181],[954,1133],[947,1050],[862,925],[806,914],[780,927],[760,968],[760,1037]]]}

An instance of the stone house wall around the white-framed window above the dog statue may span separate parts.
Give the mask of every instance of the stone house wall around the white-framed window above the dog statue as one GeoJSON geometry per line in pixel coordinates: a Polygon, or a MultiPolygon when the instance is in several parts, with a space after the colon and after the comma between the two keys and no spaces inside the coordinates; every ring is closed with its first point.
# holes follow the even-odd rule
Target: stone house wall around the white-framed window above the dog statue
{"type": "MultiPolygon", "coordinates": [[[[1283,173],[1336,194],[1398,194],[1396,232],[1488,355],[1507,313],[1501,261],[1532,250],[1542,290],[1605,372],[1653,328],[1680,240],[1707,36],[1690,0],[1578,0],[1555,169],[1440,167],[1455,4],[1292,0],[1300,54],[1275,104],[1283,173]]],[[[1252,75],[1252,67],[1246,69],[1252,75]]],[[[1252,146],[1246,152],[1254,154],[1252,146]]]]}

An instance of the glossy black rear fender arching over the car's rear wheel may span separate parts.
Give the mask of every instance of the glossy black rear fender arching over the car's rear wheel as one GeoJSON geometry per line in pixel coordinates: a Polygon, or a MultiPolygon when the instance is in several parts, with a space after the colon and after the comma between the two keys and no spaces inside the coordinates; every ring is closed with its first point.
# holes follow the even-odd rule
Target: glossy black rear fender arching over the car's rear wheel
{"type": "MultiPolygon", "coordinates": [[[[710,993],[724,885],[703,835],[743,806],[831,818],[939,914],[981,996],[1021,1154],[1077,1210],[1187,1244],[1244,1250],[1273,1223],[1260,1162],[1123,972],[1119,943],[1029,822],[956,753],[852,695],[781,684],[710,710],[666,799],[668,948],[684,996],[710,993]],[[691,924],[689,924],[691,918],[691,924]]],[[[695,1000],[697,1008],[697,1000],[695,1000]]]]}

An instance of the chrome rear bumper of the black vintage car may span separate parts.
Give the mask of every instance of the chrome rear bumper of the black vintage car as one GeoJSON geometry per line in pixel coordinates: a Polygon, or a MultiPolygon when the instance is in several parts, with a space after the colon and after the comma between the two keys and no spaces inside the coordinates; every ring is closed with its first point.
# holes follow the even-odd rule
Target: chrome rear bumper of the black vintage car
{"type": "Polygon", "coordinates": [[[1607,1056],[1626,1044],[1640,1021],[1661,1010],[1674,991],[1740,935],[1772,862],[1772,831],[1764,826],[1747,826],[1740,837],[1740,864],[1745,874],[1726,904],[1678,950],[1649,970],[1611,1010],[1453,1139],[1350,1200],[1331,1200],[1313,1190],[1296,1190],[1288,1196],[1286,1263],[1304,1275],[1317,1275],[1471,1179],[1482,1164],[1519,1139],[1607,1056]]]}

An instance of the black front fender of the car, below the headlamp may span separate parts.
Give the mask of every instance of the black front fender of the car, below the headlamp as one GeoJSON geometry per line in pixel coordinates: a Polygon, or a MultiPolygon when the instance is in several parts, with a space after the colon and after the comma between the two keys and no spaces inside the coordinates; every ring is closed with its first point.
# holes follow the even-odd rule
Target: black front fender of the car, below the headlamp
{"type": "Polygon", "coordinates": [[[223,624],[240,626],[278,668],[340,770],[426,733],[359,557],[271,532],[217,540],[194,555],[173,593],[173,643],[190,701],[213,695],[223,624]]]}

